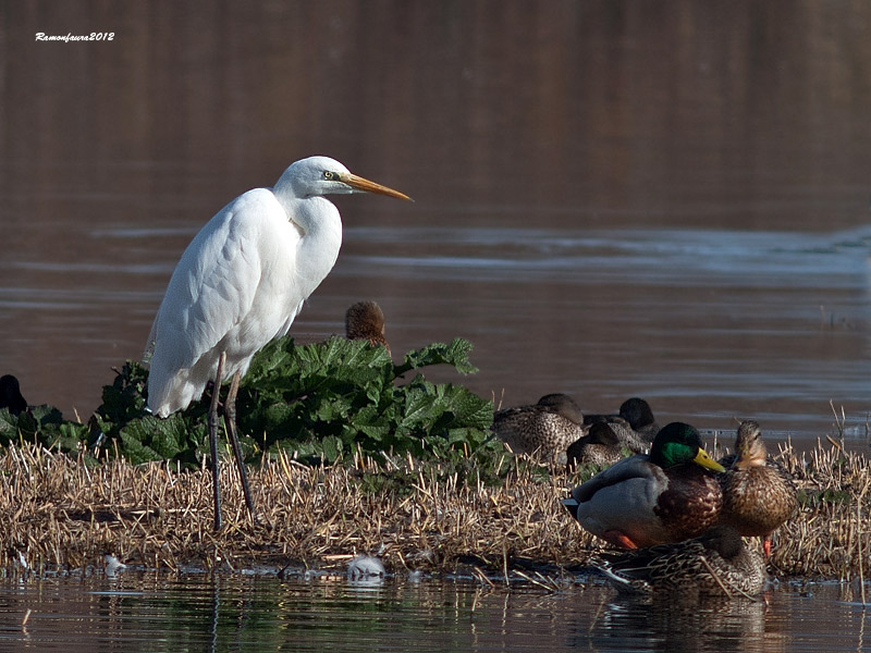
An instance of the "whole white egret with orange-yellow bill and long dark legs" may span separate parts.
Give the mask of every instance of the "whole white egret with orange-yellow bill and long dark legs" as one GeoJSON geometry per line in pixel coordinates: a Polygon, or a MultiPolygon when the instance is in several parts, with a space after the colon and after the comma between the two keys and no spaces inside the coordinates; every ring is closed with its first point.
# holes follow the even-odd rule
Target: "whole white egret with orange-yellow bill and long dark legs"
{"type": "Polygon", "coordinates": [[[257,521],[235,433],[235,397],[252,358],[287,333],[303,303],[332,269],[342,219],[324,195],[408,196],[352,174],[339,161],[309,157],[292,163],[272,188],[248,190],[221,209],[187,246],[170,279],[146,348],[148,408],[158,417],[183,410],[214,381],[209,444],[214,528],[218,488],[218,394],[232,378],[224,421],[245,501],[257,521]]]}

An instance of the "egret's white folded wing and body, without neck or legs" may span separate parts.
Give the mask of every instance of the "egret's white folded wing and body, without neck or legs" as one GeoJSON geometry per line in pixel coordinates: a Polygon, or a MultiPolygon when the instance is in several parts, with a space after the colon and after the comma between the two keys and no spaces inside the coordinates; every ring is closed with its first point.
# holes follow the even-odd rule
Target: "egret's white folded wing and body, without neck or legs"
{"type": "Polygon", "coordinates": [[[300,238],[265,188],[234,199],[196,235],[149,337],[154,412],[165,417],[198,398],[221,350],[228,356],[224,378],[244,374],[257,349],[287,332],[307,296],[298,291],[308,289],[294,283],[300,238]]]}

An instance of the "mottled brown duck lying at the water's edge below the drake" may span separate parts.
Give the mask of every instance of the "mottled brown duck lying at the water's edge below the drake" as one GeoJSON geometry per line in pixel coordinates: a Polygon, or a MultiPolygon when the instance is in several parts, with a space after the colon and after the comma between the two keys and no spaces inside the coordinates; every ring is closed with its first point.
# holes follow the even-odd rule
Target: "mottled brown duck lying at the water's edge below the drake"
{"type": "Polygon", "coordinates": [[[765,560],[731,526],[719,525],[692,540],[622,553],[603,553],[594,564],[625,592],[698,591],[732,596],[758,594],[765,560]]]}

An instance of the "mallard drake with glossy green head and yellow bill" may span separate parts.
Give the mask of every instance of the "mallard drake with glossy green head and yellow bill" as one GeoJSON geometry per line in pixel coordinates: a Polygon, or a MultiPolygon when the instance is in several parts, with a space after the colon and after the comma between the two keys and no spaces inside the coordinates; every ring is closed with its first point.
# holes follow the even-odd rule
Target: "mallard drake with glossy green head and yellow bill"
{"type": "Polygon", "coordinates": [[[699,432],[672,422],[638,454],[599,472],[563,503],[592,534],[624,549],[679,542],[713,526],[722,506],[723,471],[699,432]]]}

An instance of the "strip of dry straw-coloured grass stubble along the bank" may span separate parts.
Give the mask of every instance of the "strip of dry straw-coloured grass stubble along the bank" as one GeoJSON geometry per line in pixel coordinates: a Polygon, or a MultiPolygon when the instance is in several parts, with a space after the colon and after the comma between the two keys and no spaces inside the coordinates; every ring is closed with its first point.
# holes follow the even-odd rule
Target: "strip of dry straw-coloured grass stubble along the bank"
{"type": "MultiPolygon", "coordinates": [[[[803,501],[777,533],[772,566],[782,576],[863,574],[868,461],[836,445],[780,457],[803,501]]],[[[501,576],[529,565],[575,567],[600,550],[559,503],[578,479],[542,480],[507,458],[502,465],[513,466],[507,480],[491,488],[412,459],[379,466],[357,456],[347,467],[310,468],[282,457],[250,473],[260,527],[246,513],[235,470],[222,465],[225,527],[214,533],[207,470],[123,460],[89,467],[36,446],[10,447],[0,457],[0,566],[11,569],[22,553],[37,569],[85,567],[112,552],[155,568],[329,569],[368,553],[394,571],[487,568],[501,576]]]]}

